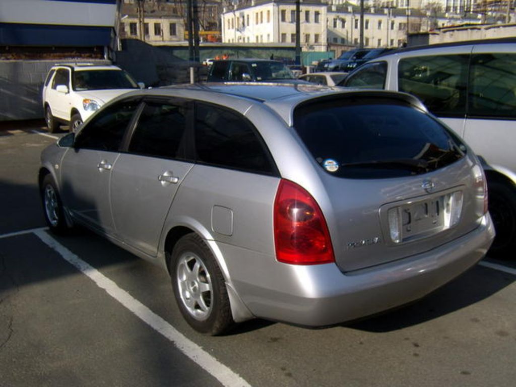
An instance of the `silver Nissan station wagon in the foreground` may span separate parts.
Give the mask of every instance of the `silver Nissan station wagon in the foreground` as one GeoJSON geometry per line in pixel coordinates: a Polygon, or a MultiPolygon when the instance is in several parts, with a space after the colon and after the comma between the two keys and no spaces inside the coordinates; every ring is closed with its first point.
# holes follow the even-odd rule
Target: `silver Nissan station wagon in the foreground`
{"type": "Polygon", "coordinates": [[[41,156],[54,232],[170,273],[188,324],[326,326],[421,298],[494,237],[474,152],[409,94],[206,84],[112,101],[41,156]]]}

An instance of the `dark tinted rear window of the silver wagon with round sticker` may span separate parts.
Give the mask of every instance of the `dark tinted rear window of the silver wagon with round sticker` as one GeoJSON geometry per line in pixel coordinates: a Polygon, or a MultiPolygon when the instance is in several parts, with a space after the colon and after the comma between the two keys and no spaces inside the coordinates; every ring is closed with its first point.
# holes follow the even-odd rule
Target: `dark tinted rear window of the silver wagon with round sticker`
{"type": "Polygon", "coordinates": [[[301,104],[294,127],[321,168],[342,178],[422,174],[456,162],[466,150],[437,120],[389,99],[301,104]]]}

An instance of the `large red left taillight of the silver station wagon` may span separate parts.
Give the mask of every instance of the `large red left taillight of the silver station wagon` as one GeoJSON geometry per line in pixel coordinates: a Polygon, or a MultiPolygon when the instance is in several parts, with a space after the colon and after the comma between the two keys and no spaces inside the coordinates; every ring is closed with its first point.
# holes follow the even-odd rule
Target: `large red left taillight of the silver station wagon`
{"type": "Polygon", "coordinates": [[[294,265],[335,262],[330,233],[310,193],[281,180],[274,203],[276,258],[294,265]]]}

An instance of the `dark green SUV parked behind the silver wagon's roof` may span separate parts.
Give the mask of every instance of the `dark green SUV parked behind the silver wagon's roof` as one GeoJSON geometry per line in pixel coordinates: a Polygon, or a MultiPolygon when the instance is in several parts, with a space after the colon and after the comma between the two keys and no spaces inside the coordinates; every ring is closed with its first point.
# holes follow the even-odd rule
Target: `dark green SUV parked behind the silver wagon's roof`
{"type": "Polygon", "coordinates": [[[214,60],[208,82],[281,82],[299,83],[288,67],[269,59],[214,60]]]}

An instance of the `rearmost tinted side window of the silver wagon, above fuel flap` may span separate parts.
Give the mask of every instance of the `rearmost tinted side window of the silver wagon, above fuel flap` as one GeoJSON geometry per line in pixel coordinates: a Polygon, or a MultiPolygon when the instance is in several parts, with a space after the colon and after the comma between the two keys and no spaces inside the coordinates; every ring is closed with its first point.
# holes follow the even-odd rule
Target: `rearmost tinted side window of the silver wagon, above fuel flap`
{"type": "Polygon", "coordinates": [[[197,105],[195,145],[201,163],[271,174],[263,140],[243,116],[213,105],[197,105]]]}

